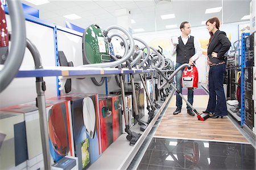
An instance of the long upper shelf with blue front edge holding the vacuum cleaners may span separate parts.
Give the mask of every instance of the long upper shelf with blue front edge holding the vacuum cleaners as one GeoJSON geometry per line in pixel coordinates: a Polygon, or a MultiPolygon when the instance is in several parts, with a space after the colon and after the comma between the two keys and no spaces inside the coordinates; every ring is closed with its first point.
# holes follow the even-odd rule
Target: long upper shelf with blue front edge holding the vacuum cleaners
{"type": "Polygon", "coordinates": [[[44,67],[44,69],[21,68],[17,78],[22,77],[49,77],[49,76],[97,76],[108,74],[129,74],[129,73],[148,73],[154,69],[117,69],[117,68],[82,68],[82,67],[44,67]]]}

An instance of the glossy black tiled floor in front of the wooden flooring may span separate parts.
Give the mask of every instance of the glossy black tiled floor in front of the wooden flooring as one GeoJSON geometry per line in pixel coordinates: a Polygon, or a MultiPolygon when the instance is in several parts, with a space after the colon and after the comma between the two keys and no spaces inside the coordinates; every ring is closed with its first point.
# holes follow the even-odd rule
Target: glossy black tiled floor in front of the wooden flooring
{"type": "Polygon", "coordinates": [[[255,169],[250,144],[152,138],[137,169],[255,169]]]}

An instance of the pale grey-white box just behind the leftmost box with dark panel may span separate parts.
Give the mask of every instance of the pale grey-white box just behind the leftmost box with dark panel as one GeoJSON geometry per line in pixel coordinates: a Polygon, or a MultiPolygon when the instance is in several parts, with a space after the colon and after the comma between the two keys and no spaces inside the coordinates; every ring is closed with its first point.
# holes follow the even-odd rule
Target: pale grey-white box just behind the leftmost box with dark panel
{"type": "Polygon", "coordinates": [[[14,105],[0,110],[21,114],[24,117],[26,126],[28,168],[40,163],[40,161],[43,161],[39,112],[38,107],[36,107],[36,102],[14,105]]]}

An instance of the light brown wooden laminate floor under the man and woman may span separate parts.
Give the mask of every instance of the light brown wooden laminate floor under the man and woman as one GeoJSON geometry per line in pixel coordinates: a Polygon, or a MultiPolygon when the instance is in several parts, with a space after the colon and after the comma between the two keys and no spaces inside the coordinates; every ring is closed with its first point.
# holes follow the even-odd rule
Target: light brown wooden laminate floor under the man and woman
{"type": "MultiPolygon", "coordinates": [[[[207,106],[205,101],[208,101],[208,96],[197,97],[199,96],[195,96],[194,101],[196,99],[196,103],[200,104],[196,105],[201,107],[196,107],[196,110],[202,113],[207,106]]],[[[187,114],[185,105],[181,113],[173,115],[176,109],[175,101],[174,96],[155,132],[155,137],[249,143],[228,117],[198,121],[196,115],[192,117],[187,114]]]]}

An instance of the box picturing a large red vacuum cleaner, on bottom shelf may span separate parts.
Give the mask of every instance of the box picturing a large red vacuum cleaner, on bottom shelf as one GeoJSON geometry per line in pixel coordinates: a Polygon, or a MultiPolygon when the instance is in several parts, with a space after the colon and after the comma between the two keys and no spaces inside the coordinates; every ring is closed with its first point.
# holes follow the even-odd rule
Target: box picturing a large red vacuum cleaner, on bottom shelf
{"type": "Polygon", "coordinates": [[[49,149],[52,164],[66,155],[75,155],[70,103],[65,99],[46,99],[49,149]]]}

